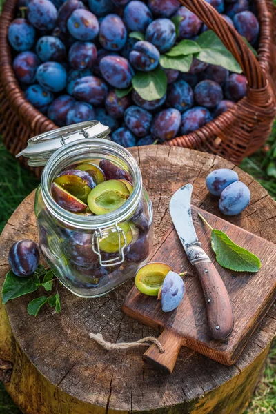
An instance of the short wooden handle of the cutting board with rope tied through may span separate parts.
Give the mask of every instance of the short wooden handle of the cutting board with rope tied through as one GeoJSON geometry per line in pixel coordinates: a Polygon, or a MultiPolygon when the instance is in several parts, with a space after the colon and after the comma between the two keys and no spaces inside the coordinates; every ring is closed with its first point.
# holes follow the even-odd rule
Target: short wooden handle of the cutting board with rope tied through
{"type": "Polygon", "coordinates": [[[155,344],[150,345],[143,355],[143,360],[152,368],[162,373],[171,374],[181,347],[181,337],[169,329],[164,328],[158,338],[164,348],[161,353],[155,344]]]}

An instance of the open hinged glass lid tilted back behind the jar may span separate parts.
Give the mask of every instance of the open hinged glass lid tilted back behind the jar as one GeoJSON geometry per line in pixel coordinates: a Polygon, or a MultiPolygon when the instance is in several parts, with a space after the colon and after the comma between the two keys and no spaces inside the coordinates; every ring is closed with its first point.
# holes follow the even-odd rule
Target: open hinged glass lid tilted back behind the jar
{"type": "Polygon", "coordinates": [[[27,147],[16,157],[28,158],[28,165],[32,167],[45,166],[50,156],[62,146],[79,139],[106,138],[109,132],[108,126],[99,121],[64,126],[28,139],[27,147]]]}

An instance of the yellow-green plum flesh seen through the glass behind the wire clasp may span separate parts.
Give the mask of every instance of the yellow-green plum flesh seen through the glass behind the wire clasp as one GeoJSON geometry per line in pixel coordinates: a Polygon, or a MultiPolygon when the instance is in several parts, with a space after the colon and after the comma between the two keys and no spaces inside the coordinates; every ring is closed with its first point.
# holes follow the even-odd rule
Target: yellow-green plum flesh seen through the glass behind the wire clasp
{"type": "MultiPolygon", "coordinates": [[[[128,246],[133,239],[133,234],[130,225],[124,221],[118,224],[118,227],[124,231],[126,237],[126,246],[128,246]]],[[[119,240],[121,242],[121,247],[124,246],[124,235],[118,233],[115,228],[110,228],[106,230],[106,234],[101,237],[99,240],[99,248],[106,253],[115,253],[119,252],[119,240]],[[120,239],[119,239],[120,237],[120,239]]]]}

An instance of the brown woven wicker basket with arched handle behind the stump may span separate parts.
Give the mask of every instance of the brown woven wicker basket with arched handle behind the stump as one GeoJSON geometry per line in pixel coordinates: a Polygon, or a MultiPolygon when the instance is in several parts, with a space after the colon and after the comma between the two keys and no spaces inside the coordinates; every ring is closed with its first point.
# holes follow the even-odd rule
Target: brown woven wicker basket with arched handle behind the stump
{"type": "MultiPolygon", "coordinates": [[[[167,141],[165,145],[195,148],[219,154],[235,164],[257,150],[268,138],[276,113],[273,83],[272,0],[255,0],[261,28],[258,61],[236,30],[204,0],[180,0],[206,23],[233,53],[248,79],[248,93],[224,114],[196,132],[167,141]]],[[[28,139],[57,128],[36,110],[19,88],[12,70],[8,26],[17,0],[6,0],[0,19],[0,132],[12,154],[25,148],[28,139]]],[[[275,50],[274,50],[275,52],[275,50]]],[[[275,63],[274,63],[275,64],[275,63]]],[[[275,72],[274,72],[275,74],[275,72]]],[[[21,159],[26,165],[26,160],[21,159]]],[[[39,170],[34,169],[39,174],[39,170]]]]}

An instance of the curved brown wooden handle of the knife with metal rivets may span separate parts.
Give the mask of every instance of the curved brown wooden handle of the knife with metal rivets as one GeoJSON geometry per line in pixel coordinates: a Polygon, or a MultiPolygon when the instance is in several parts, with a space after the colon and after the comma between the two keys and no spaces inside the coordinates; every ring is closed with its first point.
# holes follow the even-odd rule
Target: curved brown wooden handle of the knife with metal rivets
{"type": "Polygon", "coordinates": [[[212,262],[197,262],[194,266],[204,291],[210,337],[222,341],[233,331],[234,316],[230,297],[212,262]]]}

